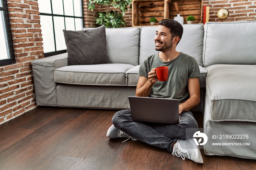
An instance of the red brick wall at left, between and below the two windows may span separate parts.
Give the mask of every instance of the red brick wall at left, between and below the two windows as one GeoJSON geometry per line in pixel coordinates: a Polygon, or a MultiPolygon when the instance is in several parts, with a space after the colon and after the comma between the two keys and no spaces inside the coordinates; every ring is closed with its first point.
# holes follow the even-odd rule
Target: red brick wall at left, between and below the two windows
{"type": "Polygon", "coordinates": [[[16,63],[0,66],[0,123],[36,107],[31,61],[42,58],[37,0],[7,0],[16,63]]]}

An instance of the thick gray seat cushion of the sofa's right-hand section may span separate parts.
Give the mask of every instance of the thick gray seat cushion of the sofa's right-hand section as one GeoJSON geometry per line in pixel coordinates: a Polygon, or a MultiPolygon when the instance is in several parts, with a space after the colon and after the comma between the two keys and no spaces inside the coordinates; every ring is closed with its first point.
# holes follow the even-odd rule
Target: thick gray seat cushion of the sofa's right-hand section
{"type": "Polygon", "coordinates": [[[211,120],[256,122],[256,65],[211,65],[206,97],[211,120]]]}

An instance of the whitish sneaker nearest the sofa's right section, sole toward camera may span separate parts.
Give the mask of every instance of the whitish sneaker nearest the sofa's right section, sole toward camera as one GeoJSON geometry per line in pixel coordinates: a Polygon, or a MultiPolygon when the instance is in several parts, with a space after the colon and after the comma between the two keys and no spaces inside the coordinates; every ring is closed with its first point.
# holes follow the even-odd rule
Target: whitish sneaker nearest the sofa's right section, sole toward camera
{"type": "Polygon", "coordinates": [[[185,160],[185,158],[188,158],[196,163],[203,163],[203,158],[200,149],[195,144],[195,141],[193,141],[192,139],[178,140],[176,144],[174,144],[173,146],[172,155],[181,157],[183,160],[185,160]]]}

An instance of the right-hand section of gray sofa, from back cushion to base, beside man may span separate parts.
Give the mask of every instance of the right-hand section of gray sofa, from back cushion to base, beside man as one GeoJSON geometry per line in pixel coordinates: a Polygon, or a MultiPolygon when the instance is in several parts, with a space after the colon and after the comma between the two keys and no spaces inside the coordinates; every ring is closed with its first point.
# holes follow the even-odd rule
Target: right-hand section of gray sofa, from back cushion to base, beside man
{"type": "Polygon", "coordinates": [[[203,63],[204,153],[256,159],[256,22],[206,23],[203,63]]]}

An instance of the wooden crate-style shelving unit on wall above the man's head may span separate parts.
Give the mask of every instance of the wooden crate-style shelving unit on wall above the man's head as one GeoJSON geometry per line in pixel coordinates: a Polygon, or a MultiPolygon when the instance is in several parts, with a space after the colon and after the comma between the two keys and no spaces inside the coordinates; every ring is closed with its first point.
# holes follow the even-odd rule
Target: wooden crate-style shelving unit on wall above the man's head
{"type": "Polygon", "coordinates": [[[185,20],[188,15],[195,16],[195,23],[202,23],[203,0],[133,0],[132,26],[149,26],[149,19],[152,17],[158,21],[164,18],[174,19],[177,16],[174,2],[178,3],[184,23],[187,23],[185,20]]]}

